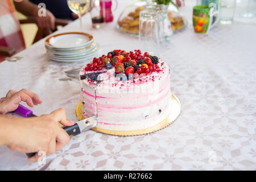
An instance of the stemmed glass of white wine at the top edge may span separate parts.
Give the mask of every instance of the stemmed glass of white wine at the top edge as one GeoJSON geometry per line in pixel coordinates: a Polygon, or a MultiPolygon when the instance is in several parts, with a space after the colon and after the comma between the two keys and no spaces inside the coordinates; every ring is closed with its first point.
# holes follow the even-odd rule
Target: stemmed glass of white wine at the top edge
{"type": "Polygon", "coordinates": [[[69,9],[77,14],[80,19],[80,31],[82,31],[81,16],[89,9],[90,0],[67,0],[69,9]]]}

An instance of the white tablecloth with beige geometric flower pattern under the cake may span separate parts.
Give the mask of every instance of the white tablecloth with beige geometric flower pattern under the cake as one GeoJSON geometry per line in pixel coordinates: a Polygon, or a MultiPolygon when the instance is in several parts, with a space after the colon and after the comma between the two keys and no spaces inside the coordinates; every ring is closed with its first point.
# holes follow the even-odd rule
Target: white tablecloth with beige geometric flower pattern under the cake
{"type": "MultiPolygon", "coordinates": [[[[115,20],[126,1],[119,1],[115,20]]],[[[171,91],[180,100],[180,117],[156,133],[116,137],[85,131],[56,154],[49,155],[46,170],[229,170],[256,169],[256,25],[255,19],[217,26],[208,35],[195,34],[192,6],[181,8],[187,28],[171,37],[157,53],[171,68],[171,91]]],[[[137,38],[123,35],[107,24],[93,30],[90,15],[85,31],[102,46],[146,51],[137,38]]],[[[79,30],[79,21],[59,32],[79,30]]],[[[9,89],[26,88],[39,94],[43,104],[35,114],[64,107],[76,120],[79,82],[64,71],[85,63],[59,63],[46,56],[44,40],[0,64],[0,96],[9,89]],[[66,81],[65,81],[66,80],[66,81]]],[[[43,161],[42,161],[43,162],[43,161]]],[[[0,147],[0,169],[39,170],[44,164],[27,162],[26,155],[0,147]]],[[[43,168],[44,169],[44,168],[43,168]]]]}

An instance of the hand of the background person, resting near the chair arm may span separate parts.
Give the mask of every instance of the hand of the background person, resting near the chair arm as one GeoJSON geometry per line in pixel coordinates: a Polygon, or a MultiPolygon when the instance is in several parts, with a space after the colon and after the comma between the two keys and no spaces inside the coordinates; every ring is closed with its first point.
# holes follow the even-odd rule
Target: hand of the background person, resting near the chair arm
{"type": "Polygon", "coordinates": [[[55,30],[55,16],[49,10],[46,10],[46,16],[36,15],[36,22],[39,28],[51,28],[55,30]]]}

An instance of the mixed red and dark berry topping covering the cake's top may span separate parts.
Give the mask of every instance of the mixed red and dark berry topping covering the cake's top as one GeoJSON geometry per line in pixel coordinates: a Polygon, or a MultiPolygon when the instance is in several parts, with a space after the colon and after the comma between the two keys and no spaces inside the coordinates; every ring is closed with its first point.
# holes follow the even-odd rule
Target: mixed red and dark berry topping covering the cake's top
{"type": "MultiPolygon", "coordinates": [[[[80,77],[81,80],[88,78],[93,82],[98,82],[98,75],[104,72],[113,72],[115,77],[122,75],[121,81],[141,79],[150,73],[161,72],[159,67],[163,67],[164,63],[161,62],[160,65],[158,63],[159,58],[149,55],[148,52],[142,53],[141,50],[126,52],[121,49],[115,49],[101,57],[94,57],[90,63],[85,65],[85,75],[80,77]]],[[[103,77],[106,78],[106,75],[103,77]]]]}

